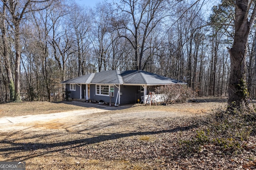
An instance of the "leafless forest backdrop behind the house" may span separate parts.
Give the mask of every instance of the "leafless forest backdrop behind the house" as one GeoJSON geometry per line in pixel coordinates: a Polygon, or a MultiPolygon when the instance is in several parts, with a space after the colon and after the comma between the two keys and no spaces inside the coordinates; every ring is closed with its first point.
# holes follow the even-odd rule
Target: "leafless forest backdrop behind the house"
{"type": "MultiPolygon", "coordinates": [[[[187,82],[198,96],[227,96],[235,6],[208,3],[119,0],[87,8],[68,0],[1,0],[0,102],[15,94],[62,100],[64,80],[134,69],[187,82]]],[[[253,25],[246,58],[250,98],[256,94],[255,37],[253,25]]]]}

